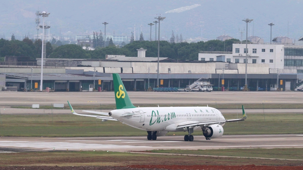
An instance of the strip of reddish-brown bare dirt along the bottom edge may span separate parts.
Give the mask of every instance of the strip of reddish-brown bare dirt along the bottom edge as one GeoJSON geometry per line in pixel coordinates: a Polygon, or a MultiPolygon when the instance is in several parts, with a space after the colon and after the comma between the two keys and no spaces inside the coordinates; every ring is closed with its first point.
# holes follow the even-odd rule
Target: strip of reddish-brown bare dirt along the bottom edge
{"type": "Polygon", "coordinates": [[[8,166],[0,170],[302,170],[303,166],[131,165],[131,166],[8,166]]]}

